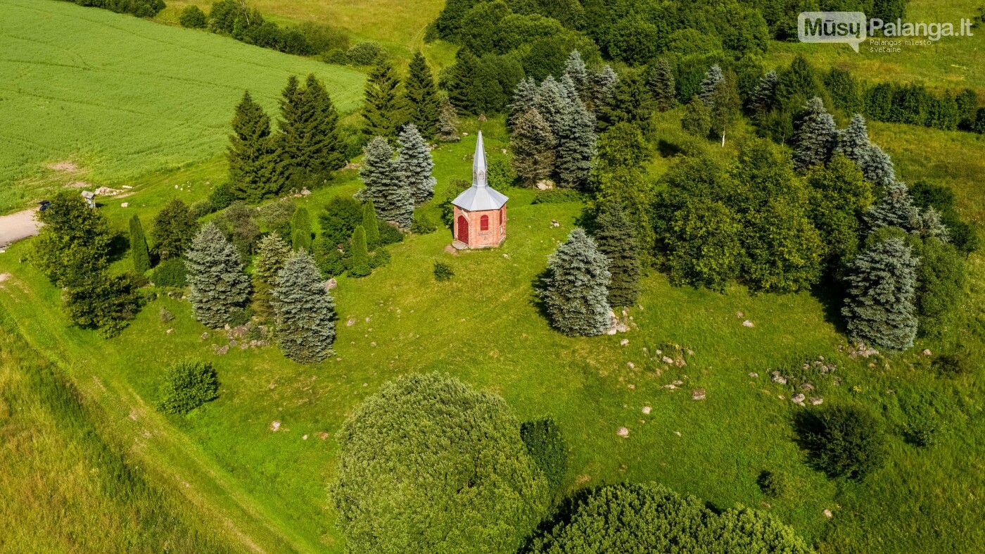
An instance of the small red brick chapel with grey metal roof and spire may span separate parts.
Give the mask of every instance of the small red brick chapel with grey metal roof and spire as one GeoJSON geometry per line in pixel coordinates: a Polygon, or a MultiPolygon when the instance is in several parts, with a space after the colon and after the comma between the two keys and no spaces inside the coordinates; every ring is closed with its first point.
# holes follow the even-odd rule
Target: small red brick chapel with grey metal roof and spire
{"type": "Polygon", "coordinates": [[[452,246],[493,248],[506,240],[506,198],[486,180],[486,149],[479,131],[475,161],[472,163],[472,186],[451,201],[455,209],[452,246]]]}

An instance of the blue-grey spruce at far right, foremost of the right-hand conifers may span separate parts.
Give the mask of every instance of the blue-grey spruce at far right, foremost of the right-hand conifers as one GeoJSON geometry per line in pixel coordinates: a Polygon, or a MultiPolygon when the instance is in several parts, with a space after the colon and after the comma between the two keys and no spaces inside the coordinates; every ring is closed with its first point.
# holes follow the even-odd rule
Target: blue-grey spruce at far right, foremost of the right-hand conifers
{"type": "Polygon", "coordinates": [[[855,257],[841,311],[853,340],[895,351],[913,346],[918,265],[899,238],[877,242],[855,257]]]}

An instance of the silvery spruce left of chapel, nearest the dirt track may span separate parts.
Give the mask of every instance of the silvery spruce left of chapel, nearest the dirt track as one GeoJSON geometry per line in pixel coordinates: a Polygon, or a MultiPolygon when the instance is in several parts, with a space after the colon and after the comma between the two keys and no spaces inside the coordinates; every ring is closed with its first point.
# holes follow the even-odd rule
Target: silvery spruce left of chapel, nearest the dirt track
{"type": "Polygon", "coordinates": [[[249,296],[249,279],[236,248],[214,222],[195,235],[185,253],[188,285],[195,318],[209,327],[229,321],[230,311],[241,307],[249,296]]]}

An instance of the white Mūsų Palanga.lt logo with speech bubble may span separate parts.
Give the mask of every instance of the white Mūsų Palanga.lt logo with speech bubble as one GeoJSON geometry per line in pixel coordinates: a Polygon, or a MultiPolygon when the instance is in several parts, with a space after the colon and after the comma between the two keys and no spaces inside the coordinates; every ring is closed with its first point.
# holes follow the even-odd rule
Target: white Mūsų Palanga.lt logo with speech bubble
{"type": "Polygon", "coordinates": [[[886,22],[866,18],[862,12],[801,12],[797,18],[797,37],[801,42],[845,43],[856,52],[868,37],[917,37],[931,41],[944,36],[971,36],[972,21],[962,18],[956,27],[947,23],[886,22]]]}

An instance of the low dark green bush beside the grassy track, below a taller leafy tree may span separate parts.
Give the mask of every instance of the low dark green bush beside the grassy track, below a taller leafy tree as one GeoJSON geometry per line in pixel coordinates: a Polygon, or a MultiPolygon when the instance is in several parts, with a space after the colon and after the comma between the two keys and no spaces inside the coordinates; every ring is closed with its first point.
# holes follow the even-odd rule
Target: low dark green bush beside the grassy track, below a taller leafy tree
{"type": "Polygon", "coordinates": [[[116,336],[140,310],[137,287],[129,274],[89,274],[65,289],[65,314],[83,328],[99,329],[103,337],[116,336]]]}

